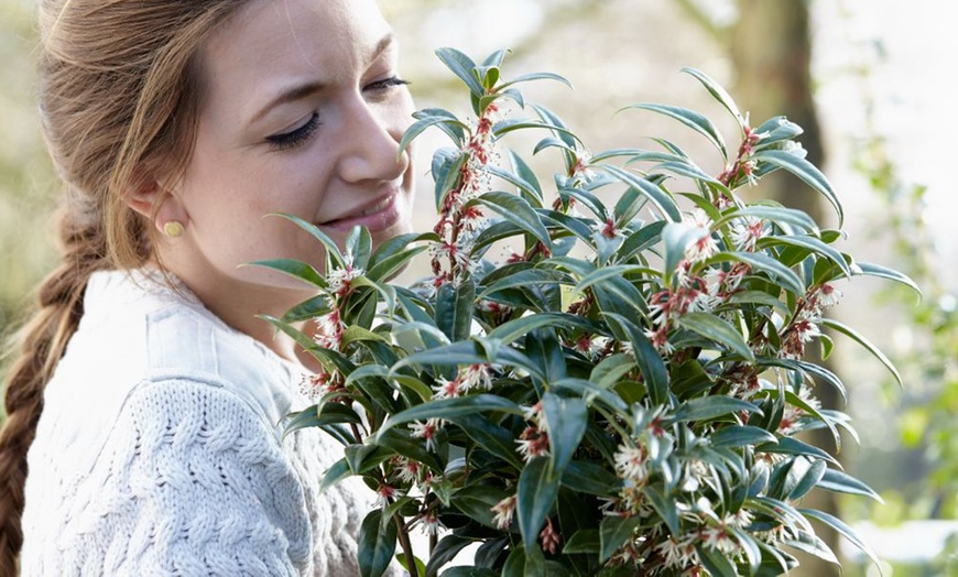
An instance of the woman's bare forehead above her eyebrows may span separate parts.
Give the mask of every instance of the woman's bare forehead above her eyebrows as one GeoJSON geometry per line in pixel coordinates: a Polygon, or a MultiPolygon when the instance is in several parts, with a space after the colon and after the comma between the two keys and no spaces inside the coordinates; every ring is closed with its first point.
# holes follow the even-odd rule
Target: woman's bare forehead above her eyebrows
{"type": "Polygon", "coordinates": [[[291,83],[349,79],[389,30],[374,0],[252,0],[200,50],[206,100],[248,108],[291,83]]]}

